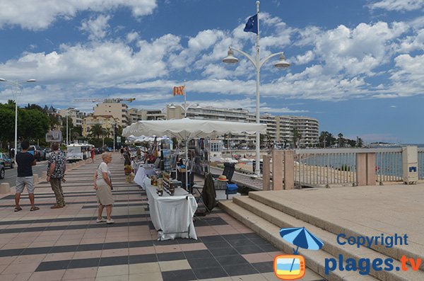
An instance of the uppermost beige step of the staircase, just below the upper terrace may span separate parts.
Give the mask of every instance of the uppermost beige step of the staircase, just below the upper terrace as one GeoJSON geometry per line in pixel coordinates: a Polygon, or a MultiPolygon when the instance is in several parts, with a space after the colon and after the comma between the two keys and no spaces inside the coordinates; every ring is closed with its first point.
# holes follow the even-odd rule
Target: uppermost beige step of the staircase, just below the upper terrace
{"type": "MultiPolygon", "coordinates": [[[[302,190],[295,191],[313,192],[302,190]]],[[[302,205],[301,202],[293,202],[286,200],[283,197],[276,197],[272,191],[250,192],[249,197],[257,202],[261,202],[264,205],[284,212],[285,214],[290,214],[292,217],[308,222],[314,226],[318,226],[333,234],[344,233],[347,237],[376,235],[375,229],[352,222],[348,218],[341,217],[331,211],[320,211],[319,214],[317,214],[317,210],[302,205]]],[[[414,258],[416,260],[417,258],[424,260],[424,247],[411,241],[408,241],[407,246],[396,245],[392,248],[387,248],[382,245],[372,245],[371,248],[396,260],[400,260],[402,256],[407,256],[408,258],[414,258]]],[[[420,270],[424,270],[424,262],[420,264],[420,270]]]]}

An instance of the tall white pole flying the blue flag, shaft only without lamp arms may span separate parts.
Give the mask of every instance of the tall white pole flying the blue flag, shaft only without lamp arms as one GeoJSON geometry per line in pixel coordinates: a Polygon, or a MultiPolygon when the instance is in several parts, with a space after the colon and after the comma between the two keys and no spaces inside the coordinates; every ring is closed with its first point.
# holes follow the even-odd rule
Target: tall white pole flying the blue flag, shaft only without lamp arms
{"type": "MultiPolygon", "coordinates": [[[[260,54],[259,54],[259,1],[257,1],[257,28],[258,28],[258,33],[257,33],[257,44],[256,44],[256,47],[257,47],[257,57],[256,57],[256,65],[257,65],[257,67],[256,67],[256,71],[257,71],[257,92],[256,92],[256,121],[257,121],[257,124],[260,124],[261,123],[261,121],[260,121],[260,117],[259,117],[259,115],[260,115],[260,111],[259,111],[259,84],[261,83],[261,81],[260,81],[260,79],[259,79],[259,73],[260,73],[260,68],[261,67],[259,67],[259,65],[260,65],[260,63],[261,63],[261,57],[260,57],[260,54]]],[[[259,131],[257,131],[257,140],[256,140],[256,157],[255,157],[255,162],[256,162],[256,167],[255,167],[255,174],[257,175],[257,176],[259,176],[260,174],[261,174],[261,163],[260,163],[260,161],[261,161],[261,137],[260,137],[260,134],[259,134],[259,131]]]]}

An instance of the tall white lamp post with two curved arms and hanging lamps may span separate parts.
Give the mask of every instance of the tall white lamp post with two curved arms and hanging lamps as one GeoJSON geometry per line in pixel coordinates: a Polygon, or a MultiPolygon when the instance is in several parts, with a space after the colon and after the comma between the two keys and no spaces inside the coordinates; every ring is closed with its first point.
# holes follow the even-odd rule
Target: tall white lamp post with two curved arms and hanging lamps
{"type": "MultiPolygon", "coordinates": [[[[259,86],[260,86],[260,69],[264,65],[265,62],[268,62],[269,59],[272,57],[280,56],[280,59],[278,59],[278,62],[274,64],[274,67],[277,67],[278,69],[283,69],[286,67],[290,67],[290,64],[285,61],[284,53],[283,52],[277,52],[275,54],[269,55],[268,57],[264,57],[264,59],[261,59],[259,54],[259,1],[256,2],[257,4],[257,40],[256,40],[256,57],[252,57],[248,55],[246,52],[243,52],[242,50],[238,50],[234,47],[228,48],[228,55],[223,59],[223,62],[228,64],[236,64],[239,62],[237,57],[234,57],[234,51],[240,53],[241,55],[244,55],[249,59],[250,62],[252,62],[254,68],[256,69],[256,122],[260,124],[260,111],[259,111],[259,86]]],[[[256,134],[256,168],[255,168],[255,174],[259,176],[261,173],[260,169],[260,137],[259,132],[256,134]]]]}

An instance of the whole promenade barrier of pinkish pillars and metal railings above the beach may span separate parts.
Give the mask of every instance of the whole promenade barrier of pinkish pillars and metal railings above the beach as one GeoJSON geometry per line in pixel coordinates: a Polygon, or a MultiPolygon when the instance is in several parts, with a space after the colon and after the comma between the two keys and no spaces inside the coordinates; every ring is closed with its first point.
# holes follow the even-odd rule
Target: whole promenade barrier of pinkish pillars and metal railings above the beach
{"type": "Polygon", "coordinates": [[[405,147],[273,150],[271,157],[264,157],[264,169],[271,171],[270,176],[264,174],[264,182],[272,179],[270,188],[280,190],[295,185],[383,185],[423,180],[424,149],[412,147],[408,150],[416,154],[416,160],[409,165],[405,163],[408,161],[405,151],[405,147]],[[412,173],[404,171],[405,167],[412,173]]]}

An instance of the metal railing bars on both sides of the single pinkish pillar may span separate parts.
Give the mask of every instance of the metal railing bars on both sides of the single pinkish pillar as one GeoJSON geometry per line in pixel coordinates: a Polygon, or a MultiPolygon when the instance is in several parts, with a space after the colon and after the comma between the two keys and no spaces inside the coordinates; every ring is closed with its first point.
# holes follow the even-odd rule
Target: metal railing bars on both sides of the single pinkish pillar
{"type": "MultiPolygon", "coordinates": [[[[375,153],[376,181],[402,180],[402,149],[295,149],[296,185],[354,185],[358,153],[375,153]]],[[[424,149],[421,162],[424,161],[424,149]]],[[[423,177],[424,177],[424,173],[423,177]]]]}

